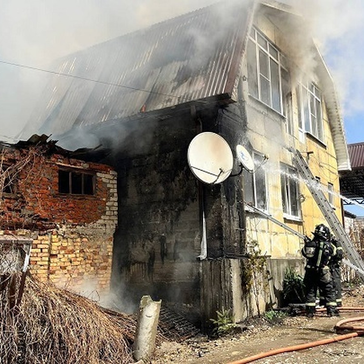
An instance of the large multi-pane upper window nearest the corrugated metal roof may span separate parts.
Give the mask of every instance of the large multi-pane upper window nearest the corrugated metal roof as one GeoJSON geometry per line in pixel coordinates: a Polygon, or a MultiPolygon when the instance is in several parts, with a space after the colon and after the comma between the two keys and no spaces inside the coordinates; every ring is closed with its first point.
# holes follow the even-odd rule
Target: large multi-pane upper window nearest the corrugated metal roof
{"type": "Polygon", "coordinates": [[[286,58],[259,31],[252,29],[248,48],[249,93],[280,114],[289,88],[286,58]]]}

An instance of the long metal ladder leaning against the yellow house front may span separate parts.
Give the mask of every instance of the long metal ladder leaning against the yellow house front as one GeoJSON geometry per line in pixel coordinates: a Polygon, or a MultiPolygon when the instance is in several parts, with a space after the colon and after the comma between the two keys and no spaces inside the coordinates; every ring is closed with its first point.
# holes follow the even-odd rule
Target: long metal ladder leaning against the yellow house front
{"type": "Polygon", "coordinates": [[[328,222],[332,232],[335,234],[336,238],[340,240],[341,245],[343,246],[344,252],[348,258],[348,260],[343,259],[343,263],[348,265],[350,268],[355,269],[356,272],[359,273],[361,280],[364,281],[363,260],[355,249],[348,234],[345,232],[343,225],[341,225],[323,191],[315,188],[317,186],[317,180],[314,178],[300,151],[293,149],[290,149],[290,151],[293,153],[293,164],[297,167],[301,177],[305,180],[306,186],[310,190],[318,207],[320,207],[320,210],[328,222]]]}

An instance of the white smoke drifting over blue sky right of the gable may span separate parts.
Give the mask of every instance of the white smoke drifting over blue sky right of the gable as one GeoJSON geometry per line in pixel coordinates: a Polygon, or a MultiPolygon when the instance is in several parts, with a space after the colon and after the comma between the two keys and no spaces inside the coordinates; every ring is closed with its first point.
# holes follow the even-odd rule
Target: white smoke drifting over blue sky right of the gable
{"type": "Polygon", "coordinates": [[[296,7],[304,16],[308,29],[333,76],[344,117],[363,112],[364,2],[361,0],[286,2],[296,7]]]}

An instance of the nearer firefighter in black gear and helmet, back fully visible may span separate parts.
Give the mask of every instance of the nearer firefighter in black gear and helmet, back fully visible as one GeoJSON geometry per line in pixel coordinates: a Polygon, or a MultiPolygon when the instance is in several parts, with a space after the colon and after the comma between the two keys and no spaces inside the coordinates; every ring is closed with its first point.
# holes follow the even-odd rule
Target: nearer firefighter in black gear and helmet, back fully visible
{"type": "Polygon", "coordinates": [[[316,294],[320,288],[325,297],[328,316],[339,316],[329,262],[335,250],[330,242],[330,230],[324,224],[317,225],[313,239],[305,238],[302,255],[306,258],[305,295],[306,315],[312,317],[316,309],[316,294]]]}

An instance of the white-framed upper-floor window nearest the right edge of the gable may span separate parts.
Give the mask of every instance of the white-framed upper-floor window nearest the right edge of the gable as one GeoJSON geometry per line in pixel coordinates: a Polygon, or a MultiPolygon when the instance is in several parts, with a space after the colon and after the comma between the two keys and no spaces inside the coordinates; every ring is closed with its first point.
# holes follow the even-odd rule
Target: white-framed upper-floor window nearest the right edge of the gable
{"type": "Polygon", "coordinates": [[[300,84],[297,87],[297,103],[300,129],[323,141],[321,92],[313,83],[300,84]]]}

